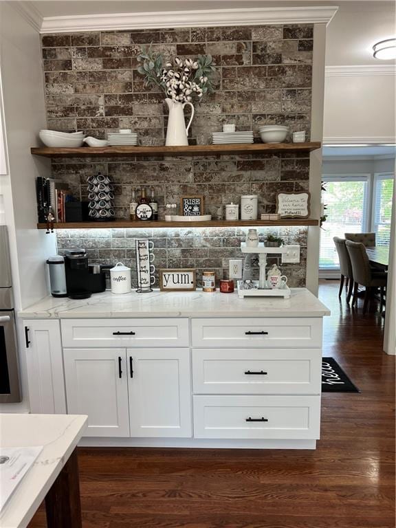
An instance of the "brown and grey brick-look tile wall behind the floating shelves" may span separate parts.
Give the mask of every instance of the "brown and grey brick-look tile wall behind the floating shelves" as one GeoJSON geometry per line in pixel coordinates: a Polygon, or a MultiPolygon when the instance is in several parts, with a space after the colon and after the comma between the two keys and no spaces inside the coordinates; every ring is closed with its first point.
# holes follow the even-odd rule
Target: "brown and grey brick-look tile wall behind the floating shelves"
{"type": "MultiPolygon", "coordinates": [[[[208,144],[214,131],[233,122],[237,130],[261,124],[287,124],[290,132],[311,124],[313,25],[265,25],[232,28],[178,28],[120,32],[47,34],[42,37],[48,128],[83,130],[103,138],[109,131],[131,128],[140,144],[164,144],[167,109],[164,95],[144,87],[137,74],[137,54],[152,44],[168,57],[212,54],[219,66],[214,94],[195,104],[190,144],[208,144]]],[[[188,118],[189,114],[186,115],[188,118]]],[[[260,141],[258,139],[258,141],[260,141]]],[[[287,137],[291,141],[291,135],[287,137]]],[[[131,157],[54,159],[52,173],[69,184],[78,199],[87,198],[86,180],[98,171],[115,184],[115,212],[129,218],[131,190],[155,188],[159,219],[164,205],[197,193],[206,212],[222,219],[225,204],[242,194],[259,195],[259,213],[274,212],[276,192],[308,190],[309,155],[268,153],[210,157],[131,157]]],[[[306,228],[260,228],[261,236],[278,233],[300,243],[300,265],[284,265],[292,286],[305,284],[306,228]]],[[[126,230],[58,230],[60,252],[71,246],[89,251],[91,261],[123,261],[134,270],[134,237],[155,243],[155,266],[214,269],[227,278],[230,258],[242,258],[238,228],[126,230]]],[[[278,259],[274,259],[278,261],[278,259]]],[[[258,274],[258,268],[257,268],[258,274]]],[[[134,270],[135,276],[135,270],[134,270]]]]}

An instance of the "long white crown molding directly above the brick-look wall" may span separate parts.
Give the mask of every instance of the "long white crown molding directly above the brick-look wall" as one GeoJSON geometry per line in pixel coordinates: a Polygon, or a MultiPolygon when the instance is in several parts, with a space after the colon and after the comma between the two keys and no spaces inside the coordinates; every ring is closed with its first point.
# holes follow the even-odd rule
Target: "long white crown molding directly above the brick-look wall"
{"type": "Polygon", "coordinates": [[[45,17],[40,32],[66,33],[149,28],[217,27],[226,25],[329,24],[337,6],[296,8],[212,9],[146,13],[85,14],[71,17],[45,17]]]}

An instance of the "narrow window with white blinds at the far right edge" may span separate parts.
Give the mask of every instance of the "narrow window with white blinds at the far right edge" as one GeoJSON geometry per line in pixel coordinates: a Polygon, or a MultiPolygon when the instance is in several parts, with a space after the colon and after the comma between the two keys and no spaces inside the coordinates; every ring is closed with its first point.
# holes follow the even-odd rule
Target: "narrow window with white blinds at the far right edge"
{"type": "Polygon", "coordinates": [[[373,186],[373,231],[376,245],[389,245],[391,239],[393,175],[375,175],[373,186]]]}

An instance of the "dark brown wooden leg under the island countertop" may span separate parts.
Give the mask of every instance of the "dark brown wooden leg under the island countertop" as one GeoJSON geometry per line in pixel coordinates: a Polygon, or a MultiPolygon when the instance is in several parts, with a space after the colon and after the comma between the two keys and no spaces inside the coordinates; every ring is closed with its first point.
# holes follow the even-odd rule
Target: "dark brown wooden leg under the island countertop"
{"type": "Polygon", "coordinates": [[[48,528],[81,528],[80,483],[75,449],[45,497],[48,528]]]}

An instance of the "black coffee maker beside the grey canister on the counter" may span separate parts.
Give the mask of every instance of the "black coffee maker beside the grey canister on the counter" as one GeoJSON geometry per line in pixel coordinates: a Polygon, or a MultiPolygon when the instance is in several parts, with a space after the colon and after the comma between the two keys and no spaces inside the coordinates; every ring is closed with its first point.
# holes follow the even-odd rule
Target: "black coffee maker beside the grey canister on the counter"
{"type": "Polygon", "coordinates": [[[91,297],[87,252],[76,248],[65,251],[67,295],[72,299],[91,297]]]}

